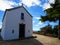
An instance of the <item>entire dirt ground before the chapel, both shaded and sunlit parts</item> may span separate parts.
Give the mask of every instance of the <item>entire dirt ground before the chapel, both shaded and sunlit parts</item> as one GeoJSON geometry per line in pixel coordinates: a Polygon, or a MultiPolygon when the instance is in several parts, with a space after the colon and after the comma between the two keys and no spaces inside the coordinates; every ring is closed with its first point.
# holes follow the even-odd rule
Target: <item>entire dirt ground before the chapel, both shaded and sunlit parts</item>
{"type": "Polygon", "coordinates": [[[53,37],[33,34],[37,38],[15,40],[15,41],[1,41],[0,45],[60,45],[60,40],[53,37]]]}

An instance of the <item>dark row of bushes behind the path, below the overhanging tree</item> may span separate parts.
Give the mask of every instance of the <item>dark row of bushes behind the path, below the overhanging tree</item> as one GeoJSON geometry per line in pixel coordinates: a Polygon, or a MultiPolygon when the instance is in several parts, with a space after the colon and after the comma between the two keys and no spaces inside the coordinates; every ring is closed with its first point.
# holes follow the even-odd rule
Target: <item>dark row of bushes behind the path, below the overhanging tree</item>
{"type": "MultiPolygon", "coordinates": [[[[52,34],[54,36],[58,36],[58,25],[54,26],[54,28],[52,28],[49,24],[45,27],[41,28],[41,32],[43,32],[44,35],[46,34],[52,34]]],[[[41,33],[40,32],[40,33],[41,33]]]]}

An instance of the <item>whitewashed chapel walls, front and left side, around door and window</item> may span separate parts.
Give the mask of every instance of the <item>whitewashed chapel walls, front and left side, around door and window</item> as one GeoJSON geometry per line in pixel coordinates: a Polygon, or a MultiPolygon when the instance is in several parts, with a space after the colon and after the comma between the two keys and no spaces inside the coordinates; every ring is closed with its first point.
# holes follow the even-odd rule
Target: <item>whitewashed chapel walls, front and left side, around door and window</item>
{"type": "Polygon", "coordinates": [[[12,40],[19,38],[19,24],[25,24],[25,37],[32,36],[32,17],[24,10],[24,8],[18,8],[8,11],[6,18],[3,21],[2,38],[3,40],[12,40]],[[25,20],[21,20],[21,13],[24,13],[25,20]],[[14,33],[12,33],[14,30],[14,33]]]}

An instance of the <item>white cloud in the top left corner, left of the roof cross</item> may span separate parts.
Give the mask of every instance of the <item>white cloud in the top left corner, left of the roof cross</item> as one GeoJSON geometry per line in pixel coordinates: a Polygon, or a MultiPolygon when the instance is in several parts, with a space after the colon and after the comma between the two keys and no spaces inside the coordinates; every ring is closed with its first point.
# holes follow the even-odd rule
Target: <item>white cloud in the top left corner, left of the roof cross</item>
{"type": "Polygon", "coordinates": [[[13,8],[12,5],[17,5],[17,3],[8,0],[0,0],[0,10],[2,11],[5,11],[5,9],[13,8]]]}

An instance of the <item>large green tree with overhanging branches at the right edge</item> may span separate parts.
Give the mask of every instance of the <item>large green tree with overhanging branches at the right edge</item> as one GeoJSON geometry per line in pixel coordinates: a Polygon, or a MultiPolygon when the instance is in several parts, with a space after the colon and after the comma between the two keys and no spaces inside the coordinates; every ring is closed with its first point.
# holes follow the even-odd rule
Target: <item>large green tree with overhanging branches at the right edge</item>
{"type": "Polygon", "coordinates": [[[46,16],[41,16],[41,21],[56,21],[59,20],[58,38],[60,39],[60,0],[55,0],[55,4],[51,4],[52,8],[46,9],[46,16]]]}

